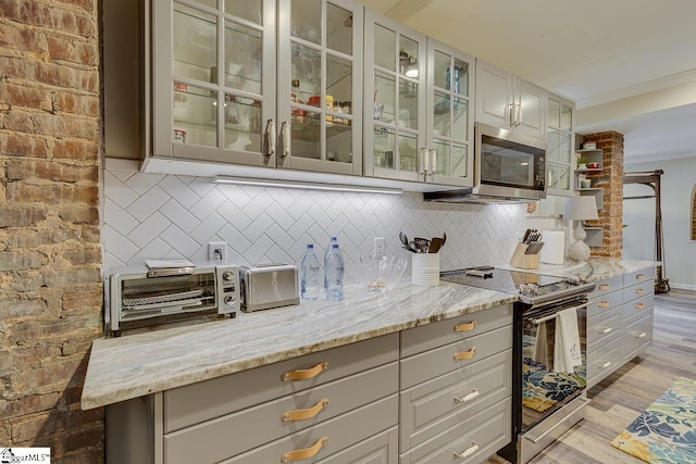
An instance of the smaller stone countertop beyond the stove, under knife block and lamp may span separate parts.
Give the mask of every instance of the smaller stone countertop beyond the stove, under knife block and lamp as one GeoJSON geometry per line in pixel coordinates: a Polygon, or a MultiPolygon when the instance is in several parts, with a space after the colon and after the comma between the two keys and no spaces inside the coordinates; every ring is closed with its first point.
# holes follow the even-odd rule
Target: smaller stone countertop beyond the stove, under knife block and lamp
{"type": "Polygon", "coordinates": [[[635,271],[655,267],[659,261],[619,260],[610,258],[591,258],[584,261],[566,261],[563,264],[539,264],[535,269],[521,269],[510,265],[497,266],[505,269],[524,271],[532,274],[546,274],[557,277],[581,276],[587,281],[598,281],[635,271]]]}

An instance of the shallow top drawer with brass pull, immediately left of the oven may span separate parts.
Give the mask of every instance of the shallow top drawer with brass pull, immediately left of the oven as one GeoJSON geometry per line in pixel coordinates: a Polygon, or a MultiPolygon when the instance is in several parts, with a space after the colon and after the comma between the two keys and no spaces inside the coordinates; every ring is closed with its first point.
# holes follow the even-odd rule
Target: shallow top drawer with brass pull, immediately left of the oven
{"type": "Polygon", "coordinates": [[[512,304],[464,314],[401,331],[401,358],[512,324],[512,304]]]}

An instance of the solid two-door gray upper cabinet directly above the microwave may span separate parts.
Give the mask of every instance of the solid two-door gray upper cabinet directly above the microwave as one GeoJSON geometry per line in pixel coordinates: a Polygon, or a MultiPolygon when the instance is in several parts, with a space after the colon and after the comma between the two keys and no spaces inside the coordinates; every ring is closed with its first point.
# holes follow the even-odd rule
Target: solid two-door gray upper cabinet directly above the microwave
{"type": "Polygon", "coordinates": [[[476,121],[546,139],[546,91],[476,59],[476,121]]]}

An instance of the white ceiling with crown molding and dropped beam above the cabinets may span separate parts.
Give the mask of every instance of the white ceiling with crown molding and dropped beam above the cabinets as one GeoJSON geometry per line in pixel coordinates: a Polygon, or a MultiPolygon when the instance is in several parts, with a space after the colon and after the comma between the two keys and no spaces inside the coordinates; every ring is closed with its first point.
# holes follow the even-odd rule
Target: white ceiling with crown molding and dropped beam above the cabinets
{"type": "Polygon", "coordinates": [[[627,163],[696,155],[694,0],[361,0],[574,100],[627,163]]]}

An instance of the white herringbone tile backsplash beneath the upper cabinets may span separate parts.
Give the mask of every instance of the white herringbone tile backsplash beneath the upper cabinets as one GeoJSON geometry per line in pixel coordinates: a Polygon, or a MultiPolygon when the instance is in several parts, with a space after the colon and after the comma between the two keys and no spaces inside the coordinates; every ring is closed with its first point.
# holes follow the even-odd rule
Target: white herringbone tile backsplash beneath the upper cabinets
{"type": "Polygon", "coordinates": [[[147,259],[206,260],[210,241],[227,243],[229,263],[297,264],[307,243],[315,243],[321,256],[335,235],[352,284],[374,237],[385,238],[387,254],[410,259],[400,230],[411,239],[447,233],[440,252],[446,271],[507,263],[527,226],[523,204],[426,203],[421,193],[216,185],[208,177],[125,171],[105,171],[104,201],[107,275],[147,259]]]}

